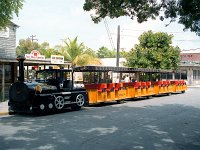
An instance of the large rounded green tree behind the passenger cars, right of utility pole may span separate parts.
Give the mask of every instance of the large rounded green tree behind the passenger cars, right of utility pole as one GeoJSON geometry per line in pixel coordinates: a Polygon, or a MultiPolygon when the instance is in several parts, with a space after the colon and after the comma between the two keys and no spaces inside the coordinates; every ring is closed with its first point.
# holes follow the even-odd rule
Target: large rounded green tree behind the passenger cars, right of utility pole
{"type": "Polygon", "coordinates": [[[180,63],[180,49],[172,46],[172,35],[152,31],[139,37],[139,44],[126,55],[129,67],[177,69],[180,63]]]}

